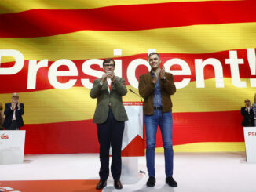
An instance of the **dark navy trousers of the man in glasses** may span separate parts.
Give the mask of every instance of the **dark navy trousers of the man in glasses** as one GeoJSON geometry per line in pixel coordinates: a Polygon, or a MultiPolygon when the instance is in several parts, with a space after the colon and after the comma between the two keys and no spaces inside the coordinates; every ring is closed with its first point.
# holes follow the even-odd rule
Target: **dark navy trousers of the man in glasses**
{"type": "Polygon", "coordinates": [[[110,108],[108,119],[102,124],[97,124],[97,135],[100,143],[100,177],[107,180],[109,175],[109,148],[112,147],[111,172],[115,180],[121,176],[122,160],[121,149],[123,139],[124,121],[116,121],[110,108]]]}

